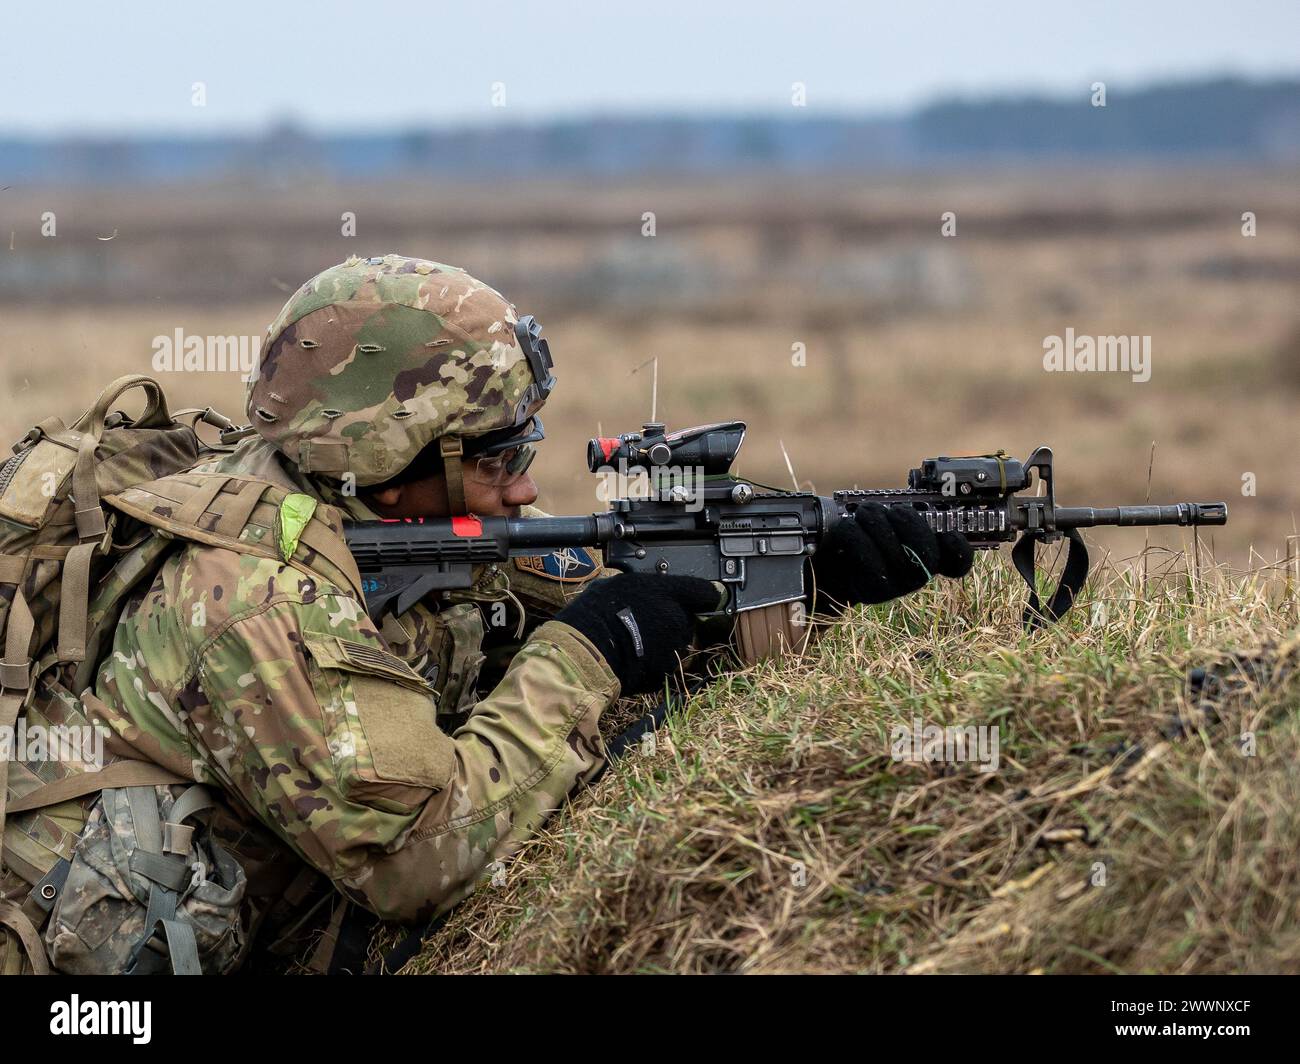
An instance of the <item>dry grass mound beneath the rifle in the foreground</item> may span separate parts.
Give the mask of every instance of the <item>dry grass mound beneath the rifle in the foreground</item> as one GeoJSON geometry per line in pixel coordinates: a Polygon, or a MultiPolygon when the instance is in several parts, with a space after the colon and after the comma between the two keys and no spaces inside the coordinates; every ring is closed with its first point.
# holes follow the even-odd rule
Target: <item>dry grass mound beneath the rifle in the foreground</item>
{"type": "Polygon", "coordinates": [[[1186,563],[1026,635],[984,557],[722,676],[406,970],[1300,972],[1294,592],[1186,563]],[[997,769],[896,760],[918,723],[997,769]]]}

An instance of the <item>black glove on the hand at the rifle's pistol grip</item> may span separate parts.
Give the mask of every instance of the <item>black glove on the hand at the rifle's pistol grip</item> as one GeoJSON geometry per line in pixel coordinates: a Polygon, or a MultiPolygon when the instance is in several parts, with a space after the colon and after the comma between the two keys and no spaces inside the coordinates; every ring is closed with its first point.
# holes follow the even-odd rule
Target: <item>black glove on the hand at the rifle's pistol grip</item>
{"type": "Polygon", "coordinates": [[[624,695],[654,691],[696,633],[696,614],[718,609],[718,588],[698,576],[620,572],[593,580],[555,614],[585,635],[619,678],[624,695]]]}

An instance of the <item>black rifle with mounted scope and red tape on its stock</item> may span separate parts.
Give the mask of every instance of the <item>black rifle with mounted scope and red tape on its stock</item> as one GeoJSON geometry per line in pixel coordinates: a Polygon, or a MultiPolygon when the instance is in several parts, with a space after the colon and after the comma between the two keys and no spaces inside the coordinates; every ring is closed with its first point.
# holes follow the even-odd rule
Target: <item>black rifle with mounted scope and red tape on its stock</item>
{"type": "Polygon", "coordinates": [[[1014,541],[1011,561],[1030,585],[1024,623],[1035,628],[1062,617],[1087,579],[1080,528],[1227,523],[1223,502],[1058,506],[1049,447],[1037,447],[1023,462],[1004,451],[927,458],[910,471],[906,488],[854,488],[829,498],[783,492],[732,473],[744,440],[744,421],[673,433],[650,421],[637,433],[590,440],[592,472],[640,475],[646,488],[638,493],[644,497],[611,499],[606,512],[352,523],[347,545],[361,574],[367,610],[377,620],[390,607],[404,613],[430,592],[468,588],[476,565],[599,548],[608,568],[720,583],[729,593],[711,617],[753,618],[766,607],[803,602],[805,563],[827,529],[862,503],[879,502],[915,507],[932,529],[959,532],[976,550],[1014,541]],[[1040,604],[1034,552],[1062,536],[1069,541],[1066,565],[1057,589],[1040,604]]]}

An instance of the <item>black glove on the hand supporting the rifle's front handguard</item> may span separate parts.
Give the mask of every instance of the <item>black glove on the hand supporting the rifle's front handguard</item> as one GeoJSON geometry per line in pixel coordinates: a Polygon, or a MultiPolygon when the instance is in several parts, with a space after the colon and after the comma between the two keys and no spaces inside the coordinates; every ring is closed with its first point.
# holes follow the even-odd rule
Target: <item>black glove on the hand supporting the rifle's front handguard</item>
{"type": "Polygon", "coordinates": [[[812,555],[812,575],[819,606],[835,611],[840,605],[888,602],[936,574],[965,576],[974,558],[965,536],[936,535],[911,506],[863,502],[826,533],[812,555]],[[836,602],[826,602],[827,597],[836,602]]]}

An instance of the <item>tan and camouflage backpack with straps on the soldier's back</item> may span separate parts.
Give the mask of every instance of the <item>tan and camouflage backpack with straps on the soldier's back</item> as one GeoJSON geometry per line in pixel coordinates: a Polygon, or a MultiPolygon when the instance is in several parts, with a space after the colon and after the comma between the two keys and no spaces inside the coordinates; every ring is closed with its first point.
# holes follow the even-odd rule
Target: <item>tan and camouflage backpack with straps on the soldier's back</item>
{"type": "Polygon", "coordinates": [[[225,929],[238,921],[242,873],[202,822],[183,823],[213,805],[202,787],[143,761],[100,766],[83,749],[26,757],[16,741],[20,727],[90,736],[86,708],[122,606],[177,539],[287,552],[286,563],[361,598],[333,507],[304,518],[307,497],[281,486],[190,472],[229,453],[199,437],[200,421],[222,445],[251,432],[211,407],[173,416],[155,380],[126,376],[72,427],[40,421],[0,464],[0,974],[105,952],[120,965],[98,970],[155,970],[160,953],[173,970],[212,957],[225,970],[238,953],[225,929]],[[144,412],[110,412],[134,389],[144,412]],[[287,540],[282,511],[298,512],[287,540]]]}

